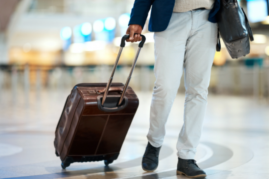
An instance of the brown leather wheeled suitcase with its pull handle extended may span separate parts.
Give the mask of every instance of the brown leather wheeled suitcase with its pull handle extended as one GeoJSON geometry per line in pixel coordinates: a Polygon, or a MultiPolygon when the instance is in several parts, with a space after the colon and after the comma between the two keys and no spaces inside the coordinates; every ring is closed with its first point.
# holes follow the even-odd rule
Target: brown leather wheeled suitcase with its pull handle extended
{"type": "Polygon", "coordinates": [[[126,85],[111,83],[127,38],[129,35],[122,38],[108,83],[77,84],[65,102],[54,140],[63,169],[74,162],[104,160],[108,165],[119,156],[139,104],[137,95],[128,86],[146,40],[142,36],[126,85]]]}

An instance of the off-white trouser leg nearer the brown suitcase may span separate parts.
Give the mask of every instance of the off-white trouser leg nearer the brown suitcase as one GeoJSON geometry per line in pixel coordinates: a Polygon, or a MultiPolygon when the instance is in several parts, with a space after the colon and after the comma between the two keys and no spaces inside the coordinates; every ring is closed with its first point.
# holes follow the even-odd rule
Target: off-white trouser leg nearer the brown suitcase
{"type": "Polygon", "coordinates": [[[167,29],[154,34],[156,81],[147,135],[149,143],[154,147],[160,147],[163,143],[165,124],[178,91],[191,18],[190,12],[173,13],[167,29]]]}

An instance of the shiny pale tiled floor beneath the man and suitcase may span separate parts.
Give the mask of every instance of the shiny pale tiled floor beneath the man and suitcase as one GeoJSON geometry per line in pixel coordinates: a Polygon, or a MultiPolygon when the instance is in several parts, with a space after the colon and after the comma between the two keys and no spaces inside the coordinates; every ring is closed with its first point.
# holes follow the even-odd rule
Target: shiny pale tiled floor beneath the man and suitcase
{"type": "MultiPolygon", "coordinates": [[[[54,154],[54,130],[69,90],[0,93],[0,178],[153,179],[176,175],[176,141],[183,124],[184,95],[178,95],[166,125],[155,172],[140,166],[149,128],[150,92],[138,92],[140,106],[119,158],[74,163],[62,169],[54,154]],[[25,97],[28,96],[28,97],[25,97]]],[[[251,97],[209,95],[196,160],[208,179],[269,178],[269,105],[251,97]]]]}

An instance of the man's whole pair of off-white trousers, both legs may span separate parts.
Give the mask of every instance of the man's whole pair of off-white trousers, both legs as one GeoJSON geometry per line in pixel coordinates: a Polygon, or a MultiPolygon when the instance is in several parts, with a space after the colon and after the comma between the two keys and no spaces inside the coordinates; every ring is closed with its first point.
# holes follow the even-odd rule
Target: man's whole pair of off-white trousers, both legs
{"type": "Polygon", "coordinates": [[[147,138],[152,146],[163,143],[165,124],[185,72],[184,125],[178,157],[193,159],[207,106],[207,88],[217,41],[217,25],[207,20],[210,10],[173,13],[167,29],[155,32],[155,87],[147,138]]]}

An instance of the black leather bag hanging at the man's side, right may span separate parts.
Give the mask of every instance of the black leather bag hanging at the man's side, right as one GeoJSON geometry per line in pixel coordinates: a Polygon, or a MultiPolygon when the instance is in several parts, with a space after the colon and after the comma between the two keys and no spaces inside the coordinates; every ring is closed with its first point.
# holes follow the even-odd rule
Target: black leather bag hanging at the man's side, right
{"type": "Polygon", "coordinates": [[[250,51],[253,34],[247,16],[237,0],[221,0],[218,12],[217,51],[221,49],[219,34],[232,58],[246,56],[250,51]]]}

